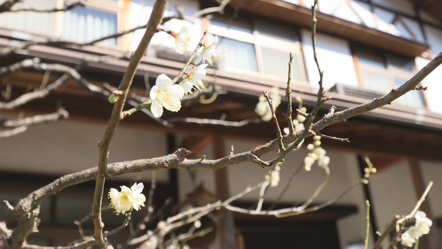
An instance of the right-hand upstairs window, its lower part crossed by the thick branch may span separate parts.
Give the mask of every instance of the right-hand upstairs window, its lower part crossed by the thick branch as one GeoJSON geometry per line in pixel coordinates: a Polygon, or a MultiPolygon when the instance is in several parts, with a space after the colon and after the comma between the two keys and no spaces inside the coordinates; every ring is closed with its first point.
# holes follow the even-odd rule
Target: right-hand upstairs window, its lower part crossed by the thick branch
{"type": "MultiPolygon", "coordinates": [[[[364,88],[386,94],[397,88],[415,74],[415,59],[391,53],[381,53],[366,48],[354,48],[358,57],[360,80],[364,88]]],[[[425,106],[422,91],[410,91],[395,100],[396,103],[425,106]]]]}

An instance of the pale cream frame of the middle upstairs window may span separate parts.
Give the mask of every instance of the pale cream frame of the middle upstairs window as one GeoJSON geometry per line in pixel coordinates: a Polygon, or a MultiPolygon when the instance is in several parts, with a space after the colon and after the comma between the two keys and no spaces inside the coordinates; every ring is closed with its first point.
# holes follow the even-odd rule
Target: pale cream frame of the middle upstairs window
{"type": "MultiPolygon", "coordinates": [[[[228,13],[226,13],[224,15],[225,16],[222,16],[222,17],[227,17],[227,18],[230,17],[228,13]]],[[[222,27],[222,26],[216,26],[216,25],[212,24],[210,20],[208,20],[208,22],[207,22],[207,30],[209,31],[209,33],[211,33],[213,35],[220,36],[220,38],[225,37],[225,38],[234,39],[234,40],[253,44],[254,48],[255,48],[257,71],[238,69],[238,68],[233,68],[233,67],[229,67],[229,66],[224,66],[221,70],[223,70],[227,73],[239,74],[242,76],[249,76],[249,77],[254,77],[254,78],[258,77],[258,78],[262,78],[265,80],[286,82],[288,75],[283,77],[283,76],[277,76],[277,75],[268,74],[268,73],[264,72],[264,63],[263,63],[261,47],[265,47],[265,48],[270,48],[270,49],[274,49],[274,50],[278,50],[278,51],[282,51],[282,52],[287,52],[287,55],[289,55],[289,52],[292,52],[292,54],[295,55],[295,58],[297,58],[297,60],[298,60],[297,64],[299,65],[298,69],[300,72],[301,79],[299,80],[299,79],[295,79],[292,77],[291,82],[295,83],[295,84],[300,84],[300,85],[310,85],[309,82],[307,81],[307,72],[306,72],[306,67],[304,64],[304,55],[302,52],[302,46],[301,46],[300,40],[290,42],[287,40],[278,39],[275,37],[269,37],[269,36],[260,34],[256,28],[255,23],[254,23],[255,19],[257,19],[256,17],[241,16],[241,18],[247,18],[248,20],[250,20],[252,33],[234,30],[234,29],[226,28],[226,27],[222,27]]],[[[277,24],[280,22],[274,21],[273,23],[277,24]]],[[[294,28],[294,29],[295,29],[298,37],[301,37],[299,29],[298,28],[294,28]]],[[[289,62],[288,58],[289,58],[289,56],[287,56],[287,63],[289,62]]],[[[287,66],[287,72],[288,72],[288,66],[287,66]]]]}

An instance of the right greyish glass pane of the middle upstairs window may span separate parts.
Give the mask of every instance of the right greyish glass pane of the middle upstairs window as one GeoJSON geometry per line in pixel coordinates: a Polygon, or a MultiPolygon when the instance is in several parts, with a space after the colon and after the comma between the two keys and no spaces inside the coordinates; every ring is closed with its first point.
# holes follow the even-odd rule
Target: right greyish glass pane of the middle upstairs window
{"type": "MultiPolygon", "coordinates": [[[[267,47],[261,47],[264,73],[287,77],[289,71],[289,52],[283,52],[267,47]]],[[[292,79],[301,80],[298,56],[293,54],[292,79]]]]}

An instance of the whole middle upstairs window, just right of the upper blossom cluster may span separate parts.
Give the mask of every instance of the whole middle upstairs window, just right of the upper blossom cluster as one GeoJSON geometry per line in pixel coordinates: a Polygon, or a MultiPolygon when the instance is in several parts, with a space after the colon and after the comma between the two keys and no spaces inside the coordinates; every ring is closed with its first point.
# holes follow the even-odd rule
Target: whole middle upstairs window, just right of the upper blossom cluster
{"type": "Polygon", "coordinates": [[[218,69],[287,81],[289,52],[292,52],[292,81],[306,81],[299,35],[293,27],[224,14],[210,19],[209,32],[219,36],[219,44],[225,49],[225,54],[215,61],[218,69]]]}

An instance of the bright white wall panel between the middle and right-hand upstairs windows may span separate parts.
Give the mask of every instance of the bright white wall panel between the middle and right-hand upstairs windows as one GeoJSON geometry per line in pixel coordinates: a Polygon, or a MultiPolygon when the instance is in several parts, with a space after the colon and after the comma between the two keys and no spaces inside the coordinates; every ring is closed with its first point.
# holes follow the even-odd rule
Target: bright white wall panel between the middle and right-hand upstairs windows
{"type": "MultiPolygon", "coordinates": [[[[302,29],[301,35],[308,78],[310,84],[317,87],[319,74],[313,58],[311,32],[310,30],[302,29]]],[[[324,70],[323,85],[326,89],[329,89],[336,83],[358,86],[355,64],[347,40],[317,33],[316,45],[318,60],[321,69],[324,70]]]]}

